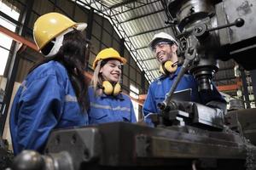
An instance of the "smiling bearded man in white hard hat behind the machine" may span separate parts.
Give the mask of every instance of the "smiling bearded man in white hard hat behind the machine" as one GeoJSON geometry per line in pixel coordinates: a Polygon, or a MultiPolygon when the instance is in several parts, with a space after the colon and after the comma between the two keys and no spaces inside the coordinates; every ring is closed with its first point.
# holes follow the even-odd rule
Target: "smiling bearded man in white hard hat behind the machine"
{"type": "MultiPolygon", "coordinates": [[[[177,66],[178,42],[171,35],[165,32],[155,34],[148,47],[152,49],[154,56],[160,62],[160,72],[162,74],[150,84],[147,99],[143,105],[145,122],[154,126],[149,115],[160,112],[157,104],[166,98],[166,94],[175,82],[175,77],[177,77],[181,67],[177,66]]],[[[213,86],[212,92],[199,93],[197,87],[195,78],[192,75],[185,74],[178,83],[176,91],[190,88],[192,91],[191,101],[225,110],[226,101],[219,94],[217,88],[213,86]]]]}

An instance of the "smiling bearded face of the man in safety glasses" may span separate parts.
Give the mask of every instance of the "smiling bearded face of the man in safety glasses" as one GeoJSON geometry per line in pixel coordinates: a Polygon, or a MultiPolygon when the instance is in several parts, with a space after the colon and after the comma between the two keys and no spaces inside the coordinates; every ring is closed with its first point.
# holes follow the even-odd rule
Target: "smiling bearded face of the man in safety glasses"
{"type": "Polygon", "coordinates": [[[173,63],[177,61],[177,46],[175,44],[156,44],[154,46],[154,56],[160,61],[161,64],[167,60],[171,60],[173,63]]]}

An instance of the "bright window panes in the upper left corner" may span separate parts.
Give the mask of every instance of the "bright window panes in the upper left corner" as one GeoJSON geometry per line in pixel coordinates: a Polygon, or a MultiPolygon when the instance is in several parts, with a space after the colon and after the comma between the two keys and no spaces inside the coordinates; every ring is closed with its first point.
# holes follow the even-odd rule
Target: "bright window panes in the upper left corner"
{"type": "MultiPolygon", "coordinates": [[[[10,8],[7,4],[0,2],[0,11],[4,14],[9,15],[14,20],[19,19],[19,13],[15,11],[14,7],[10,8]]],[[[15,31],[16,26],[10,23],[8,20],[4,19],[3,16],[0,17],[0,25],[9,29],[10,31],[15,31]]],[[[0,32],[0,54],[1,54],[1,62],[0,62],[0,75],[3,75],[7,59],[9,57],[9,50],[11,48],[11,44],[13,39],[7,37],[5,34],[0,32]]]]}

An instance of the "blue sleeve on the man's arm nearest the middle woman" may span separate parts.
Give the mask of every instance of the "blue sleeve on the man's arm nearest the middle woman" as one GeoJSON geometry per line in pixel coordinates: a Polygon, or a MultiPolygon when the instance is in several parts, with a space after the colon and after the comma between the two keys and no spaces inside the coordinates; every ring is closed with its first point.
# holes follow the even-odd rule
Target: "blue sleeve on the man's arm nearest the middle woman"
{"type": "Polygon", "coordinates": [[[154,124],[150,118],[150,115],[153,113],[157,113],[157,108],[154,101],[153,88],[152,86],[149,86],[147,98],[143,104],[143,116],[144,122],[146,122],[151,127],[154,127],[154,124]]]}

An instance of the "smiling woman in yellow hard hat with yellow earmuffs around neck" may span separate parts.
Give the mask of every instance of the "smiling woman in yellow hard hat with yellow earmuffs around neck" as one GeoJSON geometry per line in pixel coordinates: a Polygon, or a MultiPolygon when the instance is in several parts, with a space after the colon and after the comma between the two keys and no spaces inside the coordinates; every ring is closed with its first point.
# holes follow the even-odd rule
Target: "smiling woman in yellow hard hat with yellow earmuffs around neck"
{"type": "Polygon", "coordinates": [[[90,124],[137,122],[129,96],[121,93],[121,65],[126,59],[113,48],[105,48],[93,62],[94,75],[88,110],[90,124]]]}

